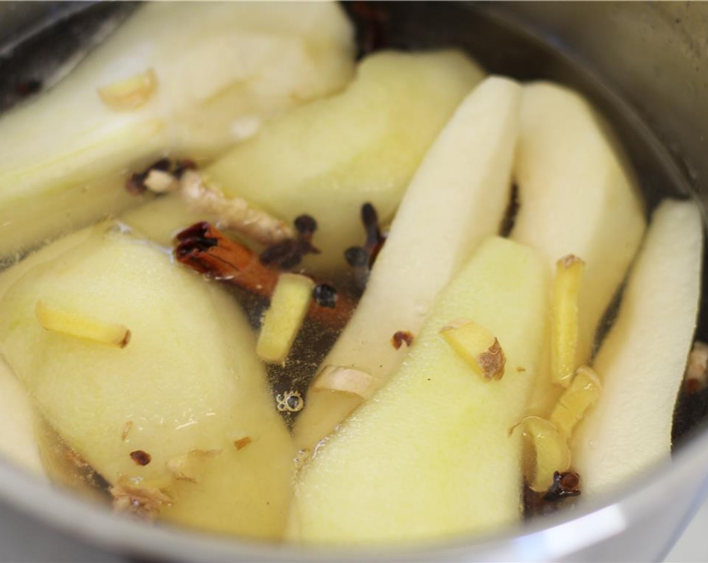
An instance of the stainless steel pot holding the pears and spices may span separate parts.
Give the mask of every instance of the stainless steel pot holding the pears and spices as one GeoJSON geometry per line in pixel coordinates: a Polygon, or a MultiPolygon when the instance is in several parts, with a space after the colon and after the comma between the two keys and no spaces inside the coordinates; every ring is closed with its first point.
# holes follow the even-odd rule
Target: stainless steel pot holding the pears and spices
{"type": "MultiPolygon", "coordinates": [[[[708,207],[708,4],[421,2],[387,8],[394,46],[459,45],[492,72],[551,78],[581,89],[619,133],[650,205],[673,193],[693,194],[708,207]]],[[[90,42],[102,22],[130,9],[0,4],[0,106],[14,101],[13,84],[50,76],[90,42]]],[[[700,317],[705,339],[704,308],[700,317]]],[[[675,451],[673,462],[654,467],[619,496],[590,499],[483,541],[459,538],[425,549],[312,552],[149,528],[7,463],[0,463],[0,499],[28,515],[18,518],[42,521],[47,534],[61,530],[106,554],[151,560],[657,560],[708,489],[708,432],[701,426],[675,451]]]]}

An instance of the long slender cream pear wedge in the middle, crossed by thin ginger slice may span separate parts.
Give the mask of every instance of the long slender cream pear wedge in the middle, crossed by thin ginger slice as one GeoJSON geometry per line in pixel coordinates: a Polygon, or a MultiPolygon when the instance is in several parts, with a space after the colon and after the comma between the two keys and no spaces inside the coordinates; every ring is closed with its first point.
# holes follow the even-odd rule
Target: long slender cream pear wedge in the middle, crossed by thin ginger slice
{"type": "MultiPolygon", "coordinates": [[[[392,336],[409,331],[415,338],[438,292],[481,239],[496,234],[509,197],[519,98],[518,84],[492,76],[457,108],[406,190],[364,296],[324,368],[354,368],[383,385],[407,350],[394,348],[392,336]]],[[[295,426],[297,445],[313,448],[360,398],[309,392],[295,426]]]]}

